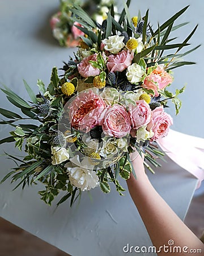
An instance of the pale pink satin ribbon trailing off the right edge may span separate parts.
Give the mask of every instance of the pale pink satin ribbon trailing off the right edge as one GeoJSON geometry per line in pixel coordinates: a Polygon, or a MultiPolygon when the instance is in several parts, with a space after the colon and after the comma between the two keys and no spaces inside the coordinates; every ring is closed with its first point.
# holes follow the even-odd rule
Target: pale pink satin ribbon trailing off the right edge
{"type": "Polygon", "coordinates": [[[159,146],[175,163],[198,179],[204,179],[204,139],[169,130],[167,137],[158,139],[159,146]]]}

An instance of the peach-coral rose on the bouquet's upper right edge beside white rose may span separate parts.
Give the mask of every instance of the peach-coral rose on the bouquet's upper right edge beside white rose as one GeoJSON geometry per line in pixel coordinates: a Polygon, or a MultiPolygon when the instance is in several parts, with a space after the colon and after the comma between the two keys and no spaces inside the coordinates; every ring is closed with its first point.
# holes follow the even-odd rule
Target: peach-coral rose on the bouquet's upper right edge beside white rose
{"type": "Polygon", "coordinates": [[[162,67],[158,66],[150,75],[145,77],[143,88],[154,91],[155,96],[159,96],[158,90],[163,90],[173,81],[172,76],[167,73],[162,67]]]}

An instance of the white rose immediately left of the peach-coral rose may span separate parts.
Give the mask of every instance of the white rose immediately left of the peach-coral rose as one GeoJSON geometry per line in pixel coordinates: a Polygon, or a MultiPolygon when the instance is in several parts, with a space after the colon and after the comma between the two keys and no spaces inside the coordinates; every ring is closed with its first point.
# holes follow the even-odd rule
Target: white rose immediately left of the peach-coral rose
{"type": "Polygon", "coordinates": [[[142,76],[145,74],[145,71],[142,70],[141,66],[137,63],[133,63],[128,67],[126,72],[126,77],[131,84],[136,84],[142,80],[142,76]]]}

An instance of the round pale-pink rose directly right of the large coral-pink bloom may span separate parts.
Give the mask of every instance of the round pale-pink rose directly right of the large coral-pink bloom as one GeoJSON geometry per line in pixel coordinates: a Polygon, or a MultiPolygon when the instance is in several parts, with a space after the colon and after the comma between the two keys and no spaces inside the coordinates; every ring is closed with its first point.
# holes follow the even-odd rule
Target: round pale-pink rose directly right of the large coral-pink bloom
{"type": "Polygon", "coordinates": [[[116,138],[126,136],[130,132],[131,125],[129,114],[124,106],[109,105],[104,112],[102,128],[105,135],[116,138]]]}

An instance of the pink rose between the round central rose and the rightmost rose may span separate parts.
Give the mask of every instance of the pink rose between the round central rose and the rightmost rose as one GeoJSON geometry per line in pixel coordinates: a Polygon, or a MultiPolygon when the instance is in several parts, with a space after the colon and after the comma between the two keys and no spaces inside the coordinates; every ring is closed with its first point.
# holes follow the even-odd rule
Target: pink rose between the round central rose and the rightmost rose
{"type": "Polygon", "coordinates": [[[133,129],[139,129],[151,120],[150,106],[144,100],[136,101],[136,106],[130,105],[129,113],[133,129]]]}

